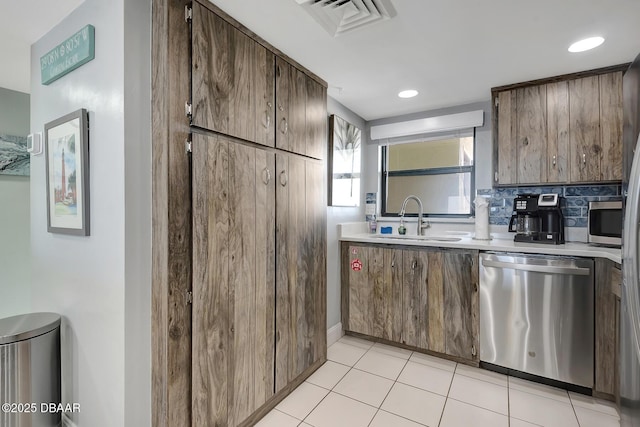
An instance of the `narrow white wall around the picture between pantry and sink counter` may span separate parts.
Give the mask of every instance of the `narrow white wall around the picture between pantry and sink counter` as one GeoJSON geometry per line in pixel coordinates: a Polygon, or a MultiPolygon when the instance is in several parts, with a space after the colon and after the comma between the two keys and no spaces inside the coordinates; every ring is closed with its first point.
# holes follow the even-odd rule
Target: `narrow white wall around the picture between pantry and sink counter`
{"type": "MultiPolygon", "coordinates": [[[[367,150],[365,136],[365,122],[335,99],[328,97],[327,112],[336,114],[362,130],[361,146],[367,150]]],[[[365,164],[364,154],[362,164],[365,164]]],[[[363,169],[362,182],[367,181],[366,169],[363,169]]],[[[340,242],[338,242],[338,224],[343,222],[364,221],[364,193],[366,186],[361,186],[360,206],[358,207],[327,207],[327,327],[331,328],[340,323],[340,242]]],[[[374,190],[375,191],[375,190],[374,190]]]]}

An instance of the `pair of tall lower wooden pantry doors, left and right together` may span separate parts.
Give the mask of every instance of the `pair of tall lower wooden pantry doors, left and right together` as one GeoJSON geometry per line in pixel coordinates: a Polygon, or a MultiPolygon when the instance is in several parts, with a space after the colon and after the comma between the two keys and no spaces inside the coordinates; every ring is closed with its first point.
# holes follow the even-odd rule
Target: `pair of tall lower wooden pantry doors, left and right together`
{"type": "Polygon", "coordinates": [[[279,181],[280,156],[220,135],[192,150],[192,425],[244,425],[326,359],[324,175],[291,158],[279,181]]]}

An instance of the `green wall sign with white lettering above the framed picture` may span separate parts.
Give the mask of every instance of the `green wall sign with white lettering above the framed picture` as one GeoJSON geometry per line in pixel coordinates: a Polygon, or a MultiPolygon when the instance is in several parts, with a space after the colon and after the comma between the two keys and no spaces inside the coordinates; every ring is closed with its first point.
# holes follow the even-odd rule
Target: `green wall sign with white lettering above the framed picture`
{"type": "Polygon", "coordinates": [[[87,25],[42,56],[42,84],[48,85],[95,58],[95,42],[95,28],[87,25]]]}

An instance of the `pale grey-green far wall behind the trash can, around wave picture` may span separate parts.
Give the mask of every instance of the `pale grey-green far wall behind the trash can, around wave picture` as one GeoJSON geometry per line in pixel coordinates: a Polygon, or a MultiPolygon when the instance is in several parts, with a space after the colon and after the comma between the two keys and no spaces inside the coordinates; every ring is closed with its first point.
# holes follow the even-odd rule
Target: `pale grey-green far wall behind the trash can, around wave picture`
{"type": "MultiPolygon", "coordinates": [[[[28,133],[29,94],[0,88],[0,134],[28,133]]],[[[0,175],[0,200],[1,319],[31,307],[29,177],[0,175]]]]}

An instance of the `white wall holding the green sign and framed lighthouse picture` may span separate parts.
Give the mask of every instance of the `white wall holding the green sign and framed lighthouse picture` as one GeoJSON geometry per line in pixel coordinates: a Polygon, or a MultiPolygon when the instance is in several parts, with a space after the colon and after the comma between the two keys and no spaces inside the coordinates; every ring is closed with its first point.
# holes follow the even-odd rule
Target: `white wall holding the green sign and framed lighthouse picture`
{"type": "Polygon", "coordinates": [[[31,50],[31,129],[89,111],[91,236],[47,232],[44,156],[31,164],[31,301],[63,316],[62,398],[81,405],[79,427],[151,424],[149,9],[86,0],[31,50]],[[95,59],[41,85],[39,58],[87,24],[95,59]]]}

